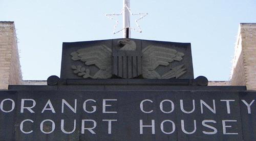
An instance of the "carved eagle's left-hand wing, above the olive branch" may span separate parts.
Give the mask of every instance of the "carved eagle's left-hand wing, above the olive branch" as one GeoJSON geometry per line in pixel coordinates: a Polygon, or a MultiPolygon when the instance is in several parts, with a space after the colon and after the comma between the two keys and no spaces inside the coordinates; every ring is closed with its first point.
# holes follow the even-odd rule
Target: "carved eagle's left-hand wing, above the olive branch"
{"type": "Polygon", "coordinates": [[[111,76],[111,55],[112,50],[106,45],[95,45],[71,53],[72,60],[80,60],[86,65],[95,65],[99,68],[99,71],[94,76],[90,76],[91,78],[111,76]]]}

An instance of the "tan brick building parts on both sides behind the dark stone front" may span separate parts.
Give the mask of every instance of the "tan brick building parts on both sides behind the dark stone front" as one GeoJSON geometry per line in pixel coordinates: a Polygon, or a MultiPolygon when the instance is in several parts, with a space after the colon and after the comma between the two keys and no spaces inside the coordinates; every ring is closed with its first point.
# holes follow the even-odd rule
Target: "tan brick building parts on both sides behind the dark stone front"
{"type": "MultiPolygon", "coordinates": [[[[209,81],[208,86],[246,86],[256,90],[256,23],[240,23],[230,80],[209,81]]],[[[229,67],[229,66],[226,66],[229,67]]],[[[0,89],[8,85],[47,85],[22,79],[14,22],[0,21],[0,89]]]]}

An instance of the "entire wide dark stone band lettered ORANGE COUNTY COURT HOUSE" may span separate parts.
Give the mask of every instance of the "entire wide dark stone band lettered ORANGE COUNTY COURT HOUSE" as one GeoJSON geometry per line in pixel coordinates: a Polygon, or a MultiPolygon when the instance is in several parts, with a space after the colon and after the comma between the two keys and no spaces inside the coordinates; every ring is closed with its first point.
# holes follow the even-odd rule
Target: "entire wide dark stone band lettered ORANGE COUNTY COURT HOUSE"
{"type": "MultiPolygon", "coordinates": [[[[4,113],[0,111],[0,136],[5,140],[252,140],[255,138],[255,106],[251,105],[251,114],[248,114],[247,107],[241,103],[245,100],[250,103],[255,99],[255,92],[248,91],[227,91],[227,90],[166,90],[166,91],[130,91],[130,90],[79,90],[78,87],[69,86],[66,90],[9,90],[0,91],[0,102],[4,99],[12,99],[15,102],[15,109],[12,112],[4,113]],[[72,90],[73,89],[73,90],[72,90]],[[74,90],[76,89],[76,90],[74,90]],[[20,106],[22,99],[33,99],[36,102],[32,108],[34,113],[24,109],[22,113],[20,106]],[[72,107],[77,100],[77,111],[72,112],[65,106],[64,113],[61,112],[61,101],[65,99],[72,107]],[[84,101],[91,99],[87,105],[84,101]],[[105,111],[116,111],[117,113],[103,113],[103,99],[106,101],[105,111]],[[117,101],[113,101],[113,100],[117,101]],[[55,113],[49,110],[50,105],[42,113],[48,100],[54,108],[55,113]],[[93,101],[94,102],[93,102],[93,101]],[[143,100],[144,113],[140,109],[143,100]],[[193,100],[195,100],[195,111],[184,113],[181,110],[180,100],[183,100],[184,110],[193,109],[193,100]],[[215,100],[216,113],[212,113],[205,105],[201,113],[201,104],[205,102],[213,108],[215,100]],[[222,100],[222,101],[221,101],[222,100]],[[230,113],[225,100],[229,102],[230,113]],[[171,101],[171,102],[170,102],[171,101]],[[162,107],[160,106],[162,103],[162,107]],[[173,106],[172,106],[173,103],[173,106]],[[110,106],[111,105],[111,106],[110,106]],[[96,111],[92,111],[96,106],[96,111]],[[84,110],[84,107],[86,110],[84,110]],[[162,109],[161,109],[162,108],[162,109]],[[169,113],[164,113],[169,112],[169,113]],[[25,134],[20,130],[22,121],[30,119],[33,123],[27,121],[24,123],[24,131],[32,133],[25,134]],[[55,123],[55,130],[50,134],[40,131],[40,123],[50,119],[55,123]],[[74,133],[65,134],[61,131],[61,120],[65,120],[65,130],[72,131],[74,120],[76,120],[76,130],[74,133]],[[89,130],[82,133],[82,120],[94,120],[96,127],[93,129],[95,134],[89,130]],[[108,133],[108,122],[102,120],[117,120],[112,122],[112,133],[108,133]],[[155,133],[152,133],[151,127],[143,127],[143,134],[140,133],[140,120],[143,125],[151,125],[152,120],[155,123],[155,133]],[[168,121],[166,121],[168,120],[168,121]],[[184,120],[184,129],[187,132],[194,130],[194,120],[196,120],[196,131],[192,134],[186,134],[182,131],[182,122],[184,120]],[[215,122],[202,121],[211,120],[215,122]],[[163,128],[161,128],[161,123],[163,128]],[[171,121],[171,122],[170,122],[171,121]],[[173,131],[173,124],[175,130],[173,131]],[[225,122],[225,126],[223,125],[225,122]],[[223,130],[225,128],[226,131],[223,130]],[[3,130],[5,129],[5,130],[3,130]],[[214,134],[205,134],[205,132],[214,134]],[[166,134],[165,132],[172,132],[166,134]],[[226,132],[226,133],[225,133],[226,132]],[[228,134],[238,133],[238,134],[228,134]],[[13,137],[14,136],[14,137],[13,137]]],[[[183,87],[185,88],[185,87],[183,87]]],[[[4,109],[11,107],[10,103],[5,103],[4,109]]],[[[25,100],[25,107],[31,107],[33,102],[25,100]]],[[[93,127],[92,121],[84,122],[84,127],[93,127]]],[[[44,131],[51,131],[50,122],[46,122],[44,131]]]]}

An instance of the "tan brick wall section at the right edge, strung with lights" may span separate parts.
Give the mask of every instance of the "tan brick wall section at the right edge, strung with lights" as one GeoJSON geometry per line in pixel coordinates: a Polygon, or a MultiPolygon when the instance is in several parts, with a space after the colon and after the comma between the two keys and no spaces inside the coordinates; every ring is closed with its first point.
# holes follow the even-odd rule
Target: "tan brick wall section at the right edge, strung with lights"
{"type": "Polygon", "coordinates": [[[256,90],[256,23],[240,24],[230,78],[231,85],[256,90]]]}

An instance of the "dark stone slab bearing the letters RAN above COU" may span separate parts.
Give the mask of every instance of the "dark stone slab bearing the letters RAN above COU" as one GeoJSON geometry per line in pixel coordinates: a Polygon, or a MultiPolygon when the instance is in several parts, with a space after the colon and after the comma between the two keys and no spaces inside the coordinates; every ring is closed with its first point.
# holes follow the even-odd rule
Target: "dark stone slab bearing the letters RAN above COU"
{"type": "MultiPolygon", "coordinates": [[[[33,121],[24,123],[24,131],[29,132],[33,130],[30,134],[24,134],[20,131],[20,127],[16,126],[15,130],[15,140],[79,140],[79,126],[76,126],[76,130],[72,134],[64,134],[61,129],[61,120],[64,120],[64,129],[66,131],[72,131],[74,127],[74,120],[76,120],[76,125],[79,125],[80,115],[82,111],[82,107],[77,107],[77,112],[74,113],[67,106],[63,109],[63,113],[61,112],[61,102],[62,99],[65,99],[70,105],[74,106],[74,99],[77,99],[77,105],[82,105],[81,93],[74,93],[70,91],[65,92],[57,92],[57,91],[33,91],[28,93],[27,91],[18,91],[17,93],[17,118],[16,123],[20,125],[20,123],[26,119],[30,119],[33,121]],[[36,93],[36,95],[33,95],[36,93]],[[32,110],[34,113],[31,113],[29,110],[24,109],[24,112],[21,113],[20,105],[21,99],[33,99],[36,102],[36,105],[32,110]],[[48,100],[52,103],[55,113],[52,110],[45,110],[43,113],[45,105],[48,100]],[[55,129],[50,134],[44,134],[40,130],[40,124],[44,120],[52,120],[55,124],[55,129]]],[[[25,106],[31,107],[33,105],[32,101],[25,101],[25,106]]],[[[48,105],[47,108],[50,108],[48,105]]],[[[45,132],[50,132],[52,130],[51,122],[45,122],[43,126],[43,130],[45,132]]]]}

